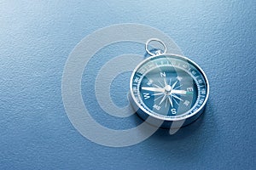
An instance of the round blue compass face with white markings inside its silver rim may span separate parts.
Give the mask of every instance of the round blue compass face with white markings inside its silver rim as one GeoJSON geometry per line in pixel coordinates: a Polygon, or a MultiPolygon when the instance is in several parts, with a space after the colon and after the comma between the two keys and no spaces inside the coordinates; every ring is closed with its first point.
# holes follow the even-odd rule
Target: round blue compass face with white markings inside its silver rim
{"type": "Polygon", "coordinates": [[[161,54],[145,59],[131,76],[131,96],[149,116],[182,120],[195,115],[207,102],[207,77],[190,59],[161,54]]]}

